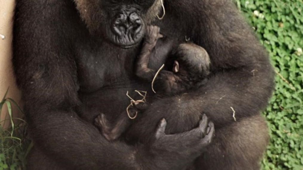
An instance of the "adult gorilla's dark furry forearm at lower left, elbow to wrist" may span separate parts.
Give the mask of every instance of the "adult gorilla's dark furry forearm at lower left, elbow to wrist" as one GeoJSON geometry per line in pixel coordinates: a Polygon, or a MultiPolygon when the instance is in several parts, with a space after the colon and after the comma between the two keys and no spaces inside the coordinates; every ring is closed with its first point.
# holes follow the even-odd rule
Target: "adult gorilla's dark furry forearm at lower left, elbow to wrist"
{"type": "Polygon", "coordinates": [[[120,142],[108,142],[95,127],[80,120],[74,112],[40,110],[36,113],[39,113],[39,116],[30,121],[29,129],[35,146],[55,159],[62,167],[139,168],[139,163],[131,159],[134,157],[132,154],[136,151],[135,147],[120,142]]]}

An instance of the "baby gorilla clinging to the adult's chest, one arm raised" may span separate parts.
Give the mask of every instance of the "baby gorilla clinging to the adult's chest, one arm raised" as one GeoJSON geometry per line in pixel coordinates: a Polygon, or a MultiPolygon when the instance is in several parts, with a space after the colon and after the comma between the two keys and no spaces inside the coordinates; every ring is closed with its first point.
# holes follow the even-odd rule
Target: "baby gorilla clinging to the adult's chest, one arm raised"
{"type": "MultiPolygon", "coordinates": [[[[171,71],[160,71],[157,74],[156,70],[148,68],[151,51],[154,49],[157,40],[162,38],[160,28],[157,26],[148,26],[143,42],[142,51],[138,57],[136,75],[146,81],[155,84],[157,97],[166,95],[175,95],[184,93],[187,90],[198,88],[206,82],[206,77],[209,75],[210,59],[206,50],[193,43],[182,43],[172,53],[174,60],[171,71]]],[[[153,88],[153,90],[154,90],[153,88]]],[[[130,108],[129,114],[135,115],[138,111],[143,111],[147,107],[146,103],[134,103],[134,107],[130,108]]],[[[207,127],[207,117],[203,115],[203,120],[199,126],[207,127]]],[[[113,127],[105,118],[104,114],[100,114],[95,119],[95,125],[101,130],[103,136],[108,140],[115,140],[131,125],[131,120],[125,113],[121,114],[118,122],[113,127]]],[[[208,128],[205,135],[210,132],[208,128]]],[[[212,131],[213,133],[213,131],[212,131]]],[[[212,135],[209,133],[209,136],[212,135]]]]}

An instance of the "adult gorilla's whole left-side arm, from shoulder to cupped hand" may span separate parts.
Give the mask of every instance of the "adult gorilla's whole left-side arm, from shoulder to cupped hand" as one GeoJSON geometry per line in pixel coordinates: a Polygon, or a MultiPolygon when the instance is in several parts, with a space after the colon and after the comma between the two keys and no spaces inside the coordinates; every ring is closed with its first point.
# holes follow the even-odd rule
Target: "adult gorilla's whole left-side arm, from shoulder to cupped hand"
{"type": "MultiPolygon", "coordinates": [[[[81,104],[72,42],[79,26],[70,7],[72,2],[61,0],[20,0],[16,6],[13,62],[35,147],[68,169],[176,169],[197,158],[212,136],[203,138],[205,128],[176,135],[157,133],[150,146],[128,146],[108,142],[78,116],[75,107],[81,104]]],[[[161,125],[159,132],[165,122],[161,125]]],[[[43,162],[31,163],[48,168],[43,162]]]]}

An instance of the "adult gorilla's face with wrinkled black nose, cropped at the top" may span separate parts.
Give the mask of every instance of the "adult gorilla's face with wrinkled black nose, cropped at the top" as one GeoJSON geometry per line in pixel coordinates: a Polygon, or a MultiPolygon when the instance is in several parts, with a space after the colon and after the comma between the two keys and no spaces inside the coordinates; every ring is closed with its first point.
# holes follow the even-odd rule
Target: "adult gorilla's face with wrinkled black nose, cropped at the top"
{"type": "Polygon", "coordinates": [[[90,33],[121,47],[139,43],[145,26],[160,11],[161,0],[75,0],[90,33]],[[160,2],[160,3],[159,3],[160,2]]]}

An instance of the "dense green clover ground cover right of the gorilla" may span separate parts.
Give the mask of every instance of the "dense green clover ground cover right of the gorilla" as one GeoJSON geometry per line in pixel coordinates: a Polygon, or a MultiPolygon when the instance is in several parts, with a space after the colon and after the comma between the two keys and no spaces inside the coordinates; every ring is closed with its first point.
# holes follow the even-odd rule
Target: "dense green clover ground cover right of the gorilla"
{"type": "Polygon", "coordinates": [[[276,88],[266,111],[271,143],[262,169],[303,170],[303,2],[235,0],[275,67],[276,88]]]}

